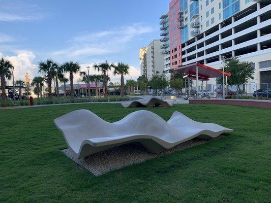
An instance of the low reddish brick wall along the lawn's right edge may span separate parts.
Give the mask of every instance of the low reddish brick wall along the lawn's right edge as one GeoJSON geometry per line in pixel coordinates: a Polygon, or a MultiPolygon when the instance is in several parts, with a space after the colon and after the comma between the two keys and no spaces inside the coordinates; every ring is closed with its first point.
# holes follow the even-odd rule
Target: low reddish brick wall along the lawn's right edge
{"type": "Polygon", "coordinates": [[[239,105],[271,109],[271,101],[253,99],[189,99],[189,104],[239,105]]]}

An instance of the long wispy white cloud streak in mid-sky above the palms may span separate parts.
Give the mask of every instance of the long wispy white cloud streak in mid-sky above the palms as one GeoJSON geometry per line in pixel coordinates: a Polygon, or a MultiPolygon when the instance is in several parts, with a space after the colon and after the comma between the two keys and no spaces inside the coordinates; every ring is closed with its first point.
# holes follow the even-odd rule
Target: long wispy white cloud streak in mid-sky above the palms
{"type": "Polygon", "coordinates": [[[52,56],[68,59],[120,53],[129,43],[154,29],[142,23],[115,27],[110,30],[84,33],[69,41],[70,46],[52,52],[52,56]]]}

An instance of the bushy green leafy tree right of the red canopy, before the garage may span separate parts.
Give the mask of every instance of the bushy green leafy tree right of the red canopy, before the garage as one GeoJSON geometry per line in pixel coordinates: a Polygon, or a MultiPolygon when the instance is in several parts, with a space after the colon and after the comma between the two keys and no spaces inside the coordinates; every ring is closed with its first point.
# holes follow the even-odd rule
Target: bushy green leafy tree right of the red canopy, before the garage
{"type": "MultiPolygon", "coordinates": [[[[241,92],[239,85],[247,83],[249,78],[253,79],[254,69],[251,64],[252,62],[239,61],[238,57],[227,58],[224,71],[231,74],[228,77],[228,85],[237,85],[241,92]]],[[[218,78],[217,83],[222,84],[223,77],[218,78]]]]}

